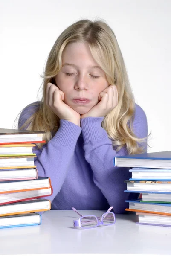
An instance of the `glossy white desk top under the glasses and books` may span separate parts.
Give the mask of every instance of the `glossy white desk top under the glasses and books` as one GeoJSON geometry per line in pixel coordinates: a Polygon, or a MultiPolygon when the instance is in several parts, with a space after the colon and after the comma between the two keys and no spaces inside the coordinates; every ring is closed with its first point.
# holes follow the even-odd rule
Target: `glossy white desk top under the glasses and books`
{"type": "MultiPolygon", "coordinates": [[[[103,211],[80,211],[100,216],[103,211]]],[[[48,211],[42,224],[0,229],[0,255],[113,253],[170,255],[171,228],[136,225],[136,215],[116,215],[116,224],[78,230],[74,211],[48,211]]]]}

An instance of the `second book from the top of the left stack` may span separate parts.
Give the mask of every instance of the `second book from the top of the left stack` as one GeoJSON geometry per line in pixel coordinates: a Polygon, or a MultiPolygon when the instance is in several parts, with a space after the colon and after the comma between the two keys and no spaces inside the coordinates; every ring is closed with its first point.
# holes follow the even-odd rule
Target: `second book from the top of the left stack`
{"type": "Polygon", "coordinates": [[[0,156],[33,154],[33,147],[35,146],[36,144],[32,143],[0,145],[0,156]]]}

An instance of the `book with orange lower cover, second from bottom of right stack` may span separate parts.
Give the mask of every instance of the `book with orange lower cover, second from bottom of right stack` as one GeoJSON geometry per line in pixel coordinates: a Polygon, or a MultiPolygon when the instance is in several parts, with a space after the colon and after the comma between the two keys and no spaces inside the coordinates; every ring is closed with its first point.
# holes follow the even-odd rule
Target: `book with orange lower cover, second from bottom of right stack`
{"type": "Polygon", "coordinates": [[[141,203],[139,200],[125,200],[125,202],[129,203],[129,208],[126,208],[126,211],[171,215],[171,204],[149,204],[141,203]]]}

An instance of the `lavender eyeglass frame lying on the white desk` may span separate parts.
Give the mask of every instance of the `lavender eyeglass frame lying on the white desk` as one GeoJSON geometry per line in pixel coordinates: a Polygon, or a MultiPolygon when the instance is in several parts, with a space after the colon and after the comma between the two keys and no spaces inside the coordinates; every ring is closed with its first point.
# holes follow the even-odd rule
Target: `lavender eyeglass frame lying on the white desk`
{"type": "MultiPolygon", "coordinates": [[[[73,221],[73,227],[80,227],[82,229],[90,229],[90,228],[94,228],[94,227],[98,227],[99,225],[102,225],[102,226],[110,226],[110,225],[113,225],[116,223],[116,217],[115,217],[115,214],[113,212],[110,212],[111,210],[113,209],[113,206],[111,206],[107,212],[105,212],[104,214],[102,214],[101,216],[97,217],[96,215],[82,215],[80,212],[78,212],[74,207],[72,207],[72,210],[75,211],[78,215],[80,215],[81,217],[78,219],[78,220],[75,220],[73,221]],[[103,219],[105,218],[105,216],[108,214],[108,213],[111,213],[113,215],[113,218],[114,218],[114,222],[113,223],[110,223],[110,224],[104,224],[103,223],[103,219]],[[81,226],[81,219],[82,218],[92,218],[94,217],[97,221],[97,224],[96,226],[94,227],[82,227],[81,226]]],[[[84,221],[85,222],[89,222],[88,220],[87,221],[84,221]]]]}

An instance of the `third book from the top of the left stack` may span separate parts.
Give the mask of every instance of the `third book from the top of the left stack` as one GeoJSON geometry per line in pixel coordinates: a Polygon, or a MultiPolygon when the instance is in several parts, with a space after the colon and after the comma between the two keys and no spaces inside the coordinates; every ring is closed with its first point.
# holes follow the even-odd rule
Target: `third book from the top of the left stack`
{"type": "Polygon", "coordinates": [[[9,167],[13,167],[13,169],[17,169],[18,167],[26,166],[35,166],[34,158],[36,156],[14,156],[14,157],[0,157],[0,169],[7,169],[9,167]]]}

